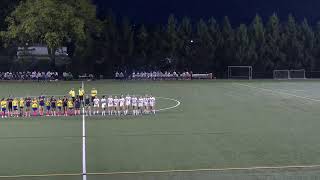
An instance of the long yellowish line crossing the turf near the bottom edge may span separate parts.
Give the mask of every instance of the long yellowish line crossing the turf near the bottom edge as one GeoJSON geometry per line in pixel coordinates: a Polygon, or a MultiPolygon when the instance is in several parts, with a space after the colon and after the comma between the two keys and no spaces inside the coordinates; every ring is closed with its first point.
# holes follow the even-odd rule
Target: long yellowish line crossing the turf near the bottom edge
{"type": "MultiPolygon", "coordinates": [[[[293,165],[293,166],[254,166],[247,168],[208,168],[208,169],[184,169],[184,170],[162,170],[162,171],[119,171],[119,172],[96,172],[87,175],[123,175],[123,174],[161,174],[161,173],[184,173],[184,172],[206,172],[206,171],[254,171],[254,170],[290,170],[290,169],[315,169],[320,165],[293,165]]],[[[54,177],[54,176],[80,176],[81,173],[74,174],[30,174],[0,176],[0,178],[25,178],[25,177],[54,177]]]]}

